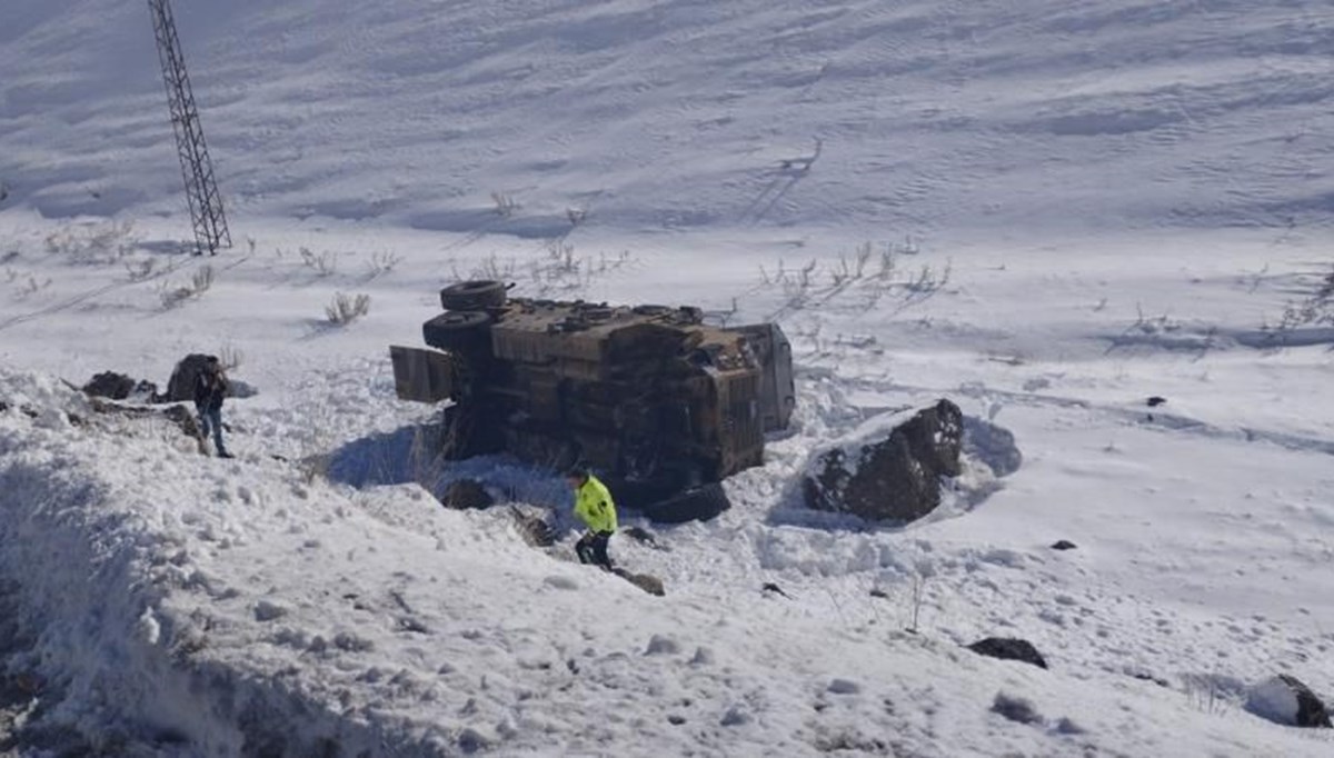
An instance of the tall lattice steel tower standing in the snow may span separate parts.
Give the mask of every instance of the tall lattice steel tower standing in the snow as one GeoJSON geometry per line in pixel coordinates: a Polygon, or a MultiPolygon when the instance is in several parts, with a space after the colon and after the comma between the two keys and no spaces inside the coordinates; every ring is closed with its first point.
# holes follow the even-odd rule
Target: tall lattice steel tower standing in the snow
{"type": "Polygon", "coordinates": [[[169,0],[148,0],[148,11],[153,16],[157,57],[163,64],[167,104],[176,131],[176,152],[185,177],[189,220],[195,227],[195,255],[203,255],[204,251],[216,255],[219,248],[232,247],[232,235],[227,231],[223,196],[217,194],[213,161],[208,157],[204,129],[199,125],[199,108],[195,107],[195,92],[189,87],[189,75],[185,73],[176,19],[169,0]]]}

